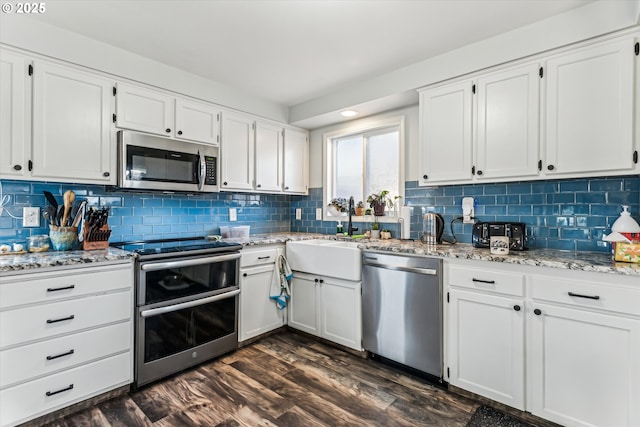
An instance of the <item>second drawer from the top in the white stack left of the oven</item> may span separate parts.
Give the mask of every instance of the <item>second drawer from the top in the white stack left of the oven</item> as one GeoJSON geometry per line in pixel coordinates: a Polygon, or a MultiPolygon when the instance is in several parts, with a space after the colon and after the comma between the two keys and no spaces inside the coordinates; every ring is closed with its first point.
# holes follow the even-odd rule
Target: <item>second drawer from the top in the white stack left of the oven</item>
{"type": "Polygon", "coordinates": [[[131,291],[3,311],[0,348],[127,320],[132,312],[131,291]]]}

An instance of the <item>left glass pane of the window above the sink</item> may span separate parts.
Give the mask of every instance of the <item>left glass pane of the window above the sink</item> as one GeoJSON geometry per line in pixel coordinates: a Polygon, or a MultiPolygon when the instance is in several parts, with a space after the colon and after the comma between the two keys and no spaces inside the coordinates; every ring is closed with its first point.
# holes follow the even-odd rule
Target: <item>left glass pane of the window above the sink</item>
{"type": "Polygon", "coordinates": [[[363,180],[362,136],[335,141],[335,186],[332,197],[353,196],[362,200],[363,180]]]}

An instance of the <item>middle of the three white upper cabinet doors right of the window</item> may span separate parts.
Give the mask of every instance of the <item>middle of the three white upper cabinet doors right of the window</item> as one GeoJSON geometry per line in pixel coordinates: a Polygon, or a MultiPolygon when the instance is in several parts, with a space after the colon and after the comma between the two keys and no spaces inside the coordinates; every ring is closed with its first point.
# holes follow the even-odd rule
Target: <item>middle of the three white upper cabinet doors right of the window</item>
{"type": "Polygon", "coordinates": [[[538,175],[538,70],[528,64],[477,80],[478,179],[538,175]]]}

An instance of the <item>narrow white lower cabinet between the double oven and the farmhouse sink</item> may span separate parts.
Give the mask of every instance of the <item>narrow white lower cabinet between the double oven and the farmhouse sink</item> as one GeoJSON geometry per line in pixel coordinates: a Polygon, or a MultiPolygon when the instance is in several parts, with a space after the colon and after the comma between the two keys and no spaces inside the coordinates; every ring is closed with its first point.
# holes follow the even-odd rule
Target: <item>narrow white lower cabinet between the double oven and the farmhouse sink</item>
{"type": "Polygon", "coordinates": [[[240,318],[238,340],[246,341],[284,325],[286,310],[279,310],[270,298],[278,288],[277,248],[245,248],[240,258],[240,318]],[[275,282],[275,283],[274,283],[275,282]],[[272,286],[274,285],[274,286],[272,286]]]}

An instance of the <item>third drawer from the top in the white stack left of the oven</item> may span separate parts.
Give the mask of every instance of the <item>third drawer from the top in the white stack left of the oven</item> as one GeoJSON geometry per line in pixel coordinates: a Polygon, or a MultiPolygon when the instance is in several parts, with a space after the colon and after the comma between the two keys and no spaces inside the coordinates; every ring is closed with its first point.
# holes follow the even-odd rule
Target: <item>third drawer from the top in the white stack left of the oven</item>
{"type": "Polygon", "coordinates": [[[0,352],[0,389],[131,349],[131,322],[0,352]]]}

